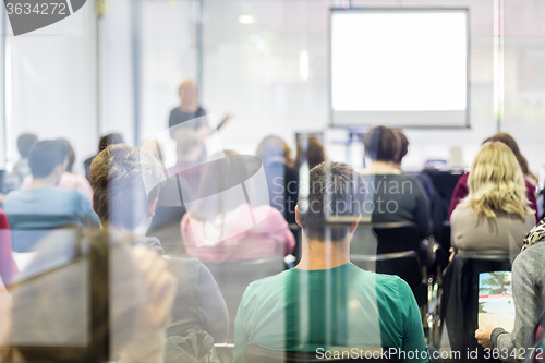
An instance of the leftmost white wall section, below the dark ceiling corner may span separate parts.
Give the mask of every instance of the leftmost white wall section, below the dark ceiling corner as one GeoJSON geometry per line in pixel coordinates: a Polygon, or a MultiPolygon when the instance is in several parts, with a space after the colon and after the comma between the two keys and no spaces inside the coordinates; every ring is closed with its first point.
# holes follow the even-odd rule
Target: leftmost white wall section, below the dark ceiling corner
{"type": "MultiPolygon", "coordinates": [[[[11,33],[11,28],[10,28],[11,33]]],[[[80,161],[96,148],[95,16],[86,5],[63,21],[17,37],[11,49],[11,152],[29,131],[39,138],[65,137],[80,161]]]]}

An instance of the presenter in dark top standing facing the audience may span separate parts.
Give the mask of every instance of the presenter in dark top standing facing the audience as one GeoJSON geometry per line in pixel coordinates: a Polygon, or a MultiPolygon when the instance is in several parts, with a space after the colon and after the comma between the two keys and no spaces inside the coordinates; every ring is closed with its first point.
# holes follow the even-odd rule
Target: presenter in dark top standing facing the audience
{"type": "MultiPolygon", "coordinates": [[[[208,125],[208,120],[206,119],[206,111],[201,107],[198,102],[198,88],[193,81],[184,81],[179,88],[180,106],[174,108],[170,112],[169,128],[170,136],[175,138],[172,126],[180,125],[175,130],[191,129],[197,131],[197,135],[201,140],[211,134],[214,130],[208,125]]],[[[218,125],[221,128],[227,121],[231,119],[231,114],[226,114],[218,125]]]]}

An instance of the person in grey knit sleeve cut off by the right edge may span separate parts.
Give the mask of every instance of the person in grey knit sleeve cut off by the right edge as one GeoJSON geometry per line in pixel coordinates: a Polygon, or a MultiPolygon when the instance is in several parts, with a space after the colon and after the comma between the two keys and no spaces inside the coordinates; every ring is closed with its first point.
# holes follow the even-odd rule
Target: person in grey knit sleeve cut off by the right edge
{"type": "Polygon", "coordinates": [[[512,295],[514,300],[514,327],[511,332],[504,328],[487,326],[475,330],[477,342],[484,348],[509,352],[506,362],[520,362],[529,358],[533,328],[545,308],[545,220],[526,235],[522,252],[512,265],[512,295]],[[522,353],[521,360],[514,354],[522,353]]]}

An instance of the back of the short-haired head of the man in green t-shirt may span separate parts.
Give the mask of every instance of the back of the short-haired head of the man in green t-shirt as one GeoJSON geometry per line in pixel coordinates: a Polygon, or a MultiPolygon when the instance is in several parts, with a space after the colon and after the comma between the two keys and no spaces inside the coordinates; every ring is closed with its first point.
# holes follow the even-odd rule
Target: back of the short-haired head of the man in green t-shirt
{"type": "Polygon", "coordinates": [[[350,226],[326,227],[326,221],[361,214],[367,195],[365,181],[347,164],[325,161],[311,170],[308,187],[308,198],[305,201],[300,194],[298,204],[305,235],[314,241],[343,241],[350,226]]]}

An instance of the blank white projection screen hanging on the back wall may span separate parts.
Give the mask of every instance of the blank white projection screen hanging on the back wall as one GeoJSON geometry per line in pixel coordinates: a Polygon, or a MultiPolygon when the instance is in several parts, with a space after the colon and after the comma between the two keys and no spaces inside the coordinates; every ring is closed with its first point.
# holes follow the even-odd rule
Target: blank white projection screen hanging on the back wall
{"type": "Polygon", "coordinates": [[[468,128],[468,9],[331,9],[331,125],[468,128]]]}

